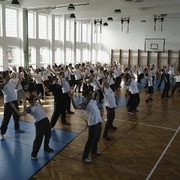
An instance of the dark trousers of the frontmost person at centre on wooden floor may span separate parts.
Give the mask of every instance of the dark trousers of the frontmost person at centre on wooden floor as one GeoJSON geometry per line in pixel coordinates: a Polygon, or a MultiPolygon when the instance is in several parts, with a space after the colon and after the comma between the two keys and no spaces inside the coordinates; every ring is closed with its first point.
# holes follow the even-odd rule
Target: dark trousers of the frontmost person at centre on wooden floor
{"type": "Polygon", "coordinates": [[[89,126],[89,135],[88,140],[86,142],[84,153],[83,153],[83,159],[88,158],[89,153],[91,151],[96,152],[97,151],[97,144],[99,142],[100,136],[101,136],[101,130],[102,130],[102,123],[99,122],[95,125],[89,126]]]}

